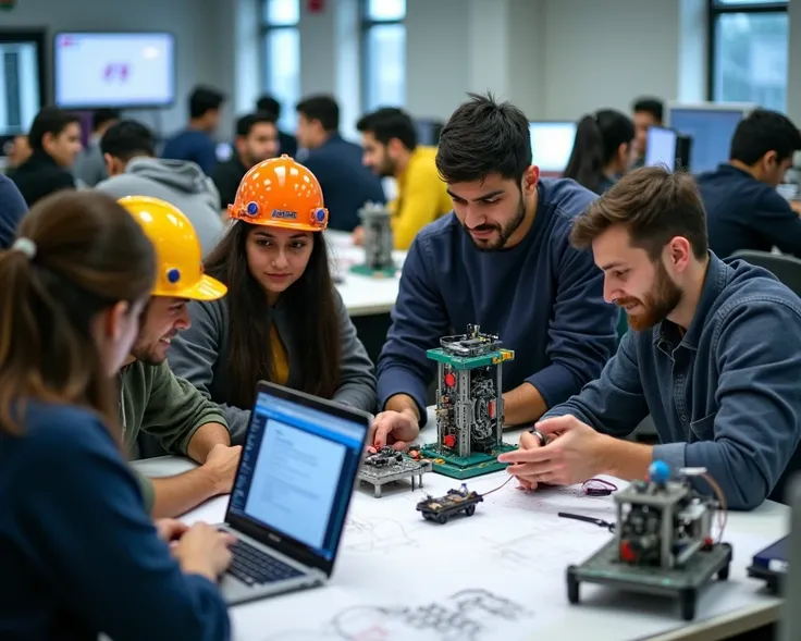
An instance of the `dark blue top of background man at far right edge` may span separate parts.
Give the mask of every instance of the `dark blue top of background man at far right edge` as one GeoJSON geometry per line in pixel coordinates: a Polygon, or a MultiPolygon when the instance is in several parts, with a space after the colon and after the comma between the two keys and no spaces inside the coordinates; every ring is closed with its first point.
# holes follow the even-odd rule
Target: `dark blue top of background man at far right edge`
{"type": "Polygon", "coordinates": [[[730,164],[697,181],[710,248],[717,256],[728,258],[738,249],[771,251],[775,246],[801,257],[801,219],[776,189],[730,164]]]}

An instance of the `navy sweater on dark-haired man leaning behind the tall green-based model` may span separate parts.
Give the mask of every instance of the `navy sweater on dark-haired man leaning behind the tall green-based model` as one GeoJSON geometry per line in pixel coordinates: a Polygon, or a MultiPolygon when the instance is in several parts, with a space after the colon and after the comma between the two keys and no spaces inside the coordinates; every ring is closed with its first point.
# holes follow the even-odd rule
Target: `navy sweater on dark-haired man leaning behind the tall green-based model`
{"type": "Polygon", "coordinates": [[[515,350],[504,363],[504,391],[528,381],[554,407],[597,378],[615,348],[619,312],[603,300],[592,252],[568,242],[574,218],[594,199],[574,181],[542,180],[531,230],[495,252],[478,250],[454,213],[423,227],[404,262],[379,358],[380,408],[403,393],[424,417],[435,371],[426,350],[468,323],[500,334],[515,350]]]}

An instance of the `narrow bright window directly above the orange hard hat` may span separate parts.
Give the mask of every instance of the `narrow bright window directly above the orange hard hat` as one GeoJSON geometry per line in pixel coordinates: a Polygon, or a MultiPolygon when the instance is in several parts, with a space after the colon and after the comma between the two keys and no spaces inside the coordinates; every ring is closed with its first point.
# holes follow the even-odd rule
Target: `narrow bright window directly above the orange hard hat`
{"type": "Polygon", "coordinates": [[[262,0],[264,91],[281,102],[283,130],[295,130],[300,100],[300,0],[262,0]]]}

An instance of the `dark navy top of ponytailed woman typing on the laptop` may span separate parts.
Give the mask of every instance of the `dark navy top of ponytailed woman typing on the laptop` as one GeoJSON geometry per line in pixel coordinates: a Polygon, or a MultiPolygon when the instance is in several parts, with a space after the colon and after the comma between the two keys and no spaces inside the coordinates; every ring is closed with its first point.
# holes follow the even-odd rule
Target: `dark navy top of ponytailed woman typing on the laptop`
{"type": "Polygon", "coordinates": [[[33,403],[24,427],[0,432],[0,639],[229,639],[217,587],[181,571],[97,417],[33,403]]]}

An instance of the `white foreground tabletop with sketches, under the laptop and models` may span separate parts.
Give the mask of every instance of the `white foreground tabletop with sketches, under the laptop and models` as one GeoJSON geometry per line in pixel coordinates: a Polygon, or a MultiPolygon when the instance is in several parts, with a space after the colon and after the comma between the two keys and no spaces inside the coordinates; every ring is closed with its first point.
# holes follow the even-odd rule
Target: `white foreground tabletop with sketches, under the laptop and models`
{"type": "MultiPolygon", "coordinates": [[[[429,421],[432,426],[433,421],[429,421]]],[[[433,431],[427,427],[421,442],[433,431]]],[[[516,441],[515,432],[508,440],[516,441]]],[[[193,464],[163,457],[137,461],[151,476],[178,473],[193,464]]],[[[468,481],[479,492],[498,486],[507,476],[496,472],[468,481]]],[[[515,489],[515,481],[488,495],[475,516],[444,526],[423,521],[415,510],[424,492],[444,493],[460,481],[426,474],[423,490],[399,485],[373,498],[369,486],[357,490],[348,514],[336,567],[329,585],[232,608],[241,641],[342,641],[406,639],[434,641],[504,641],[531,639],[658,641],[726,639],[773,622],[779,600],[745,575],[753,553],[784,535],[789,526],[786,506],[766,502],[759,509],[729,515],[726,541],[734,544],[729,580],[702,592],[695,621],[681,620],[673,600],[624,595],[581,584],[581,603],[567,603],[564,568],[590,556],[608,540],[603,528],[556,517],[558,510],[612,518],[612,498],[592,498],[575,489],[534,493],[515,489]],[[484,611],[470,620],[483,632],[432,633],[409,627],[397,611],[459,603],[454,593],[488,590],[515,602],[523,612],[506,620],[484,611]],[[347,628],[349,636],[334,629],[347,628]]],[[[184,520],[219,522],[227,497],[218,497],[187,514],[184,520]]],[[[429,615],[431,614],[431,611],[429,615]]],[[[515,613],[513,613],[514,615],[515,613]]],[[[419,619],[418,619],[419,620],[419,619]]]]}

